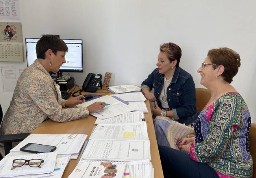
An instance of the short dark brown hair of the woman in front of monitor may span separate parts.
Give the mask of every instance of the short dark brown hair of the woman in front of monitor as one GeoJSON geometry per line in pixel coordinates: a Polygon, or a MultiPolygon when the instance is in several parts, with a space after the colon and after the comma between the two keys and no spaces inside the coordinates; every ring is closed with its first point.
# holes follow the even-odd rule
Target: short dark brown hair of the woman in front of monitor
{"type": "Polygon", "coordinates": [[[35,51],[37,53],[37,59],[45,59],[45,52],[51,49],[52,52],[56,55],[57,51],[69,51],[67,45],[63,40],[61,40],[56,35],[43,35],[37,42],[35,46],[35,51]]]}

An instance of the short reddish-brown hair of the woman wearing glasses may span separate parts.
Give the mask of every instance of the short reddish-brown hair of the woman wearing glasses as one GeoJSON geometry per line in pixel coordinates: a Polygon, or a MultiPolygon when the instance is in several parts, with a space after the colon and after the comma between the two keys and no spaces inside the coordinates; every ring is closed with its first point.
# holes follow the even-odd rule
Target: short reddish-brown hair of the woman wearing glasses
{"type": "Polygon", "coordinates": [[[233,77],[237,74],[238,68],[241,65],[241,59],[239,54],[227,47],[221,47],[218,49],[211,49],[208,51],[207,56],[210,57],[210,60],[213,64],[213,68],[216,69],[218,65],[224,66],[224,72],[221,74],[223,79],[231,83],[233,81],[233,77]]]}

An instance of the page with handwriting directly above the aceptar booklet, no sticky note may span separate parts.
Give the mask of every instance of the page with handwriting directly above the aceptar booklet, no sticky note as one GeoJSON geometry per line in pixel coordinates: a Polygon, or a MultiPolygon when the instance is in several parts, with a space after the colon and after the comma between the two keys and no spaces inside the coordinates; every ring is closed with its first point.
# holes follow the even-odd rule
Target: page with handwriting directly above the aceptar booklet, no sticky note
{"type": "Polygon", "coordinates": [[[113,161],[151,160],[149,140],[91,139],[81,158],[113,161]]]}

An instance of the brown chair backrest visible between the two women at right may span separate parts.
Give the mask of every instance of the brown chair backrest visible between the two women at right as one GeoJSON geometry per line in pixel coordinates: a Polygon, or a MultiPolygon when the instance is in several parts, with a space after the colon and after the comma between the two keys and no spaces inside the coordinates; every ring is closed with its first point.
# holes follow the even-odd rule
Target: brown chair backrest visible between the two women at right
{"type": "Polygon", "coordinates": [[[205,88],[196,88],[196,106],[200,113],[211,98],[211,92],[205,88]]]}

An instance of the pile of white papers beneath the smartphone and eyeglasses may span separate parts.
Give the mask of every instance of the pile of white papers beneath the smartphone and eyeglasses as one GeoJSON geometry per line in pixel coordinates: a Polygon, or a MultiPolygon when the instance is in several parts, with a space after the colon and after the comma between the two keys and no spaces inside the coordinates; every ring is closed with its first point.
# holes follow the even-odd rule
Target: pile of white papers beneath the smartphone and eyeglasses
{"type": "Polygon", "coordinates": [[[78,157],[86,137],[87,135],[85,134],[30,134],[0,161],[0,177],[60,178],[69,160],[78,157]],[[57,149],[51,153],[33,154],[21,152],[20,148],[27,143],[52,145],[56,146],[57,149]],[[27,163],[21,167],[11,169],[15,159],[41,159],[43,163],[41,163],[40,169],[38,167],[30,167],[27,163]]]}

